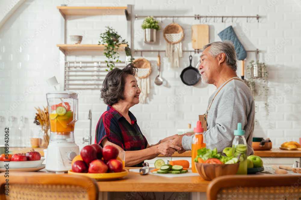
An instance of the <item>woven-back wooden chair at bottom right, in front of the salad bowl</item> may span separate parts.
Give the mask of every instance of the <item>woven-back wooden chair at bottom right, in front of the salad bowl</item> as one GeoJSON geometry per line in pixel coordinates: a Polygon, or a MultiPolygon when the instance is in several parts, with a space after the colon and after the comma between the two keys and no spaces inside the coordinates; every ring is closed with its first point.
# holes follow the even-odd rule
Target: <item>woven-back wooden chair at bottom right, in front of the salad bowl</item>
{"type": "Polygon", "coordinates": [[[213,179],[207,199],[299,199],[301,176],[228,175],[213,179]]]}

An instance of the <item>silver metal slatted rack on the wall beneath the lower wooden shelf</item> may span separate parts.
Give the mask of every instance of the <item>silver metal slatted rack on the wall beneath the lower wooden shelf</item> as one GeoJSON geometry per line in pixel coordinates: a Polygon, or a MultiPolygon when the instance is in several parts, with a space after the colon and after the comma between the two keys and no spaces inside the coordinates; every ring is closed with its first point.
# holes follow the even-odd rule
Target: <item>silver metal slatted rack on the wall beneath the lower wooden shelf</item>
{"type": "MultiPolygon", "coordinates": [[[[124,67],[126,62],[116,63],[124,67]]],[[[65,90],[99,90],[107,75],[107,63],[104,61],[65,61],[65,90]]]]}

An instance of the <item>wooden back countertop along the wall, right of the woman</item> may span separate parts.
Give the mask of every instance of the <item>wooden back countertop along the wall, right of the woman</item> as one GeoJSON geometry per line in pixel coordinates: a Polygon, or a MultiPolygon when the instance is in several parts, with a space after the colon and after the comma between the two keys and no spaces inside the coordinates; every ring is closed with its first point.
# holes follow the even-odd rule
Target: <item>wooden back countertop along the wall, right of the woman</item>
{"type": "MultiPolygon", "coordinates": [[[[301,157],[301,151],[295,150],[295,151],[289,151],[289,150],[282,150],[282,149],[276,149],[273,148],[271,150],[266,151],[254,151],[254,155],[259,157],[301,157]]],[[[159,155],[158,157],[164,157],[162,155],[159,155]]],[[[178,152],[175,152],[172,157],[191,157],[191,151],[185,151],[182,154],[179,154],[178,152]]]]}

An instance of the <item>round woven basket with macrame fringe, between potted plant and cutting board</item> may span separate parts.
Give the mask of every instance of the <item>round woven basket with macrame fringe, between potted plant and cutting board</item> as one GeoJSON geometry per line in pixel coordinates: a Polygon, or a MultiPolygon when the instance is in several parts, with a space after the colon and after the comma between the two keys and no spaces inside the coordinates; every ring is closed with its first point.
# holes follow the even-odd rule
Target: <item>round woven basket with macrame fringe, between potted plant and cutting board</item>
{"type": "Polygon", "coordinates": [[[183,28],[177,23],[172,23],[164,28],[163,36],[166,40],[166,56],[171,67],[179,67],[179,58],[183,57],[182,39],[183,28]]]}

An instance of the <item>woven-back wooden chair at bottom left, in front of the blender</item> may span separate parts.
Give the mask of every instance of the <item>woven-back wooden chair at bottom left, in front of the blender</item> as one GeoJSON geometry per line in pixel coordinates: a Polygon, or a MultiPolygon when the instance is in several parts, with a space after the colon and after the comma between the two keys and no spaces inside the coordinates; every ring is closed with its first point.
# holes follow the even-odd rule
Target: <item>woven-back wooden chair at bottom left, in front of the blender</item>
{"type": "Polygon", "coordinates": [[[98,199],[98,186],[94,179],[81,175],[9,172],[0,174],[0,199],[98,199]],[[8,179],[9,196],[5,195],[8,179]]]}

